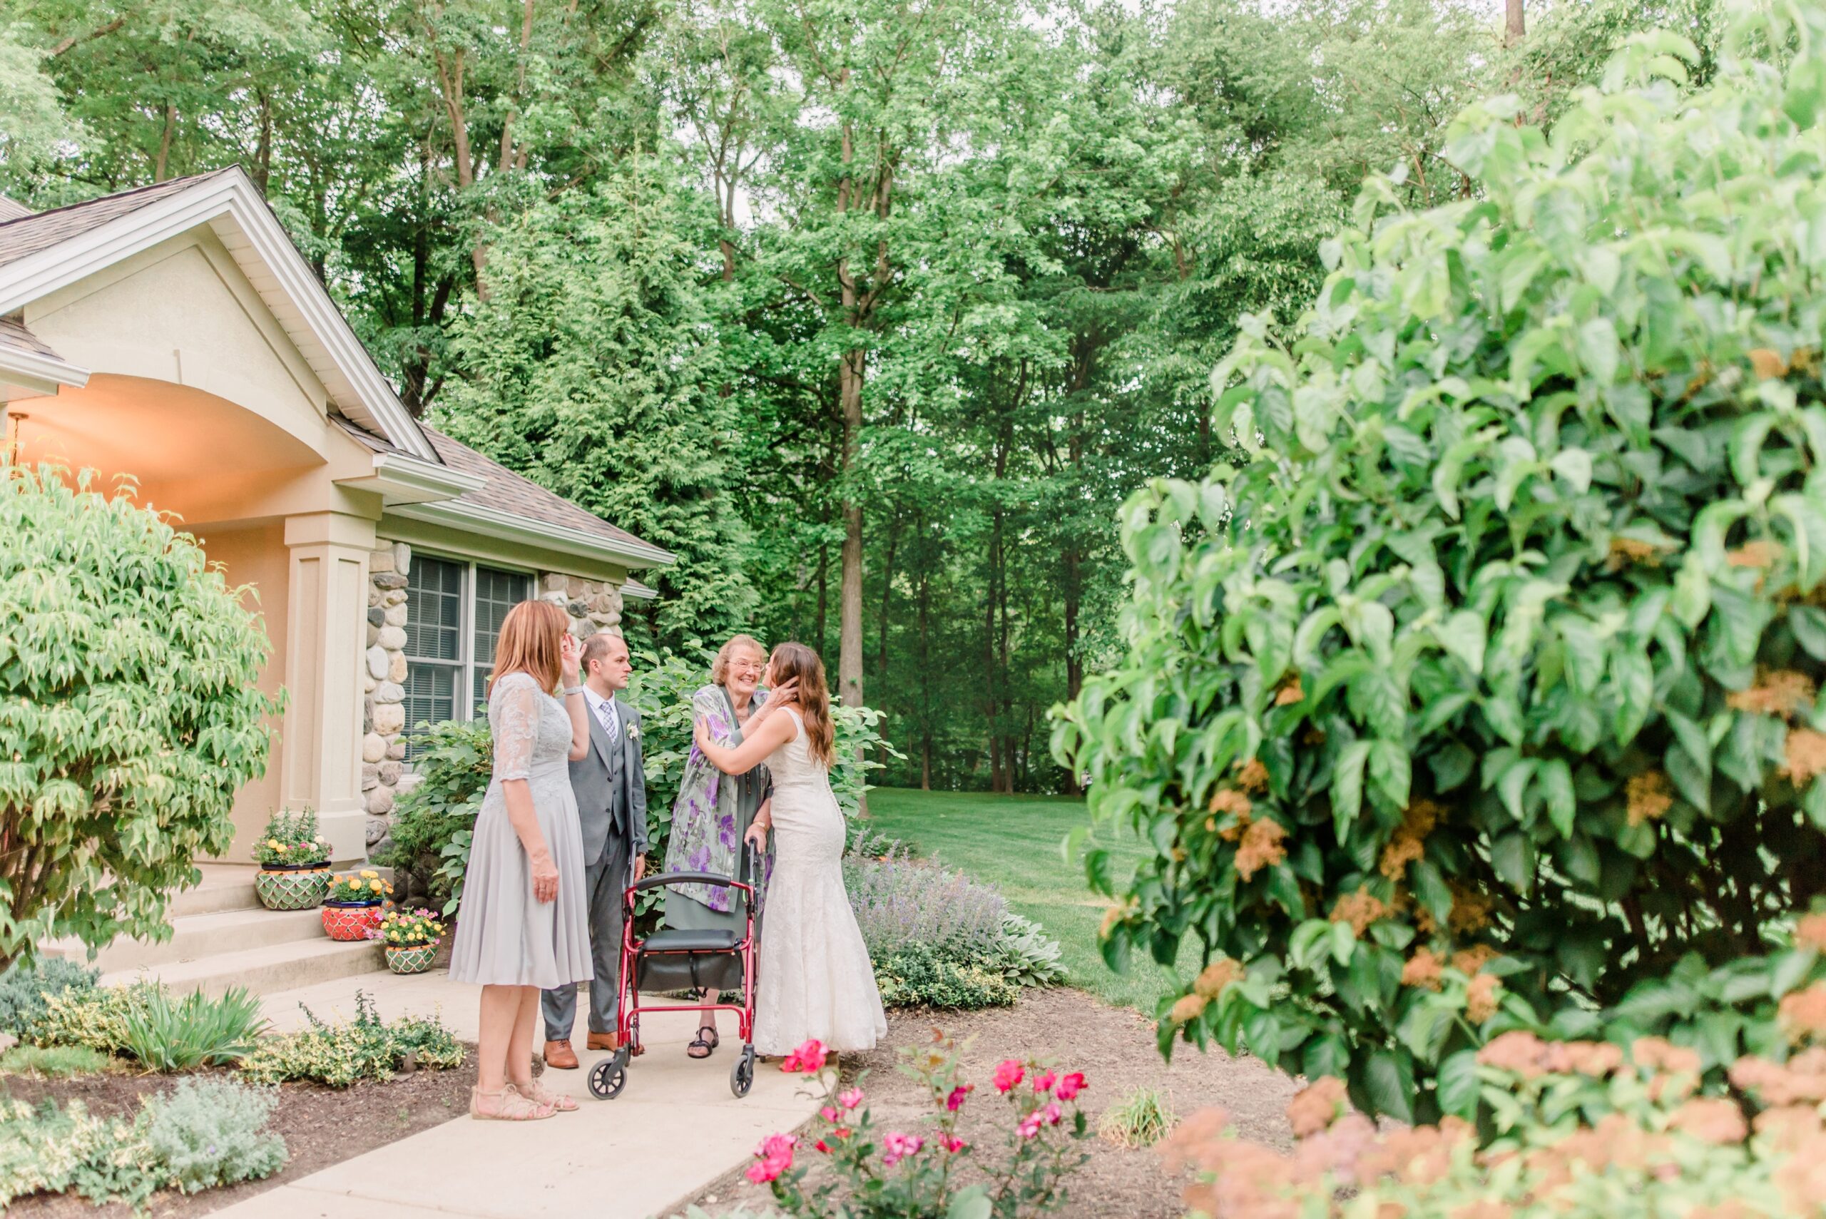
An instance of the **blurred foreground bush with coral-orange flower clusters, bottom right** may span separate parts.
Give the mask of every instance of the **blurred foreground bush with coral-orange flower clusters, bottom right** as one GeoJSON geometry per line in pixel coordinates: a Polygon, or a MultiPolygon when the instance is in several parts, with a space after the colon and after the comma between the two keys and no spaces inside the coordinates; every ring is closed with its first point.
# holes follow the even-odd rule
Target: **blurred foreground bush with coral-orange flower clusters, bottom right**
{"type": "Polygon", "coordinates": [[[1826,1197],[1826,1049],[1738,1060],[1746,1099],[1769,1106],[1755,1122],[1731,1099],[1696,1097],[1698,1055],[1660,1038],[1625,1055],[1512,1031],[1477,1064],[1497,1128],[1483,1150],[1455,1117],[1379,1131],[1328,1077],[1287,1106],[1291,1155],[1225,1133],[1223,1111],[1207,1110],[1169,1141],[1169,1168],[1198,1170],[1185,1201],[1212,1219],[1777,1219],[1817,1215],[1826,1197]]]}

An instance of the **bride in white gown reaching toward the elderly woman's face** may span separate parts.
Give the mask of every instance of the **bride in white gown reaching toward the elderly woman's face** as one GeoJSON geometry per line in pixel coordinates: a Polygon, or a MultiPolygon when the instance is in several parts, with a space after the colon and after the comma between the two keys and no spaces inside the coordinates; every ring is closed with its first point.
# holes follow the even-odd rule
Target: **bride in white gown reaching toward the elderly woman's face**
{"type": "MultiPolygon", "coordinates": [[[[774,781],[774,870],[754,971],[754,1047],[787,1055],[816,1038],[836,1053],[873,1049],[887,1016],[844,891],[844,812],[831,792],[834,726],[824,661],[803,644],[780,644],[767,662],[767,686],[774,693],[734,748],[698,723],[698,750],[712,766],[743,774],[765,761],[774,781]]],[[[749,836],[765,841],[767,828],[756,818],[749,836]]]]}

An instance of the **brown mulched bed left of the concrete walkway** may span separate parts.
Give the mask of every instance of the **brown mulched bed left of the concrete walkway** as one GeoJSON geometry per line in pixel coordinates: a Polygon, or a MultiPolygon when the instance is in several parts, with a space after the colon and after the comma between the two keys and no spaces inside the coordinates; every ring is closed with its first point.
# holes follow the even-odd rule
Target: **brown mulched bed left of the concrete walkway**
{"type": "MultiPolygon", "coordinates": [[[[146,1214],[203,1215],[467,1113],[469,1089],[475,1086],[475,1046],[466,1049],[469,1053],[464,1064],[453,1071],[420,1069],[398,1075],[387,1084],[356,1084],[341,1089],[321,1084],[281,1084],[270,1130],[285,1135],[285,1168],[265,1181],[248,1181],[225,1190],[190,1195],[163,1192],[153,1195],[146,1214]]],[[[173,1082],[172,1075],[133,1073],[57,1080],[0,1075],[0,1095],[33,1104],[46,1099],[82,1100],[91,1113],[131,1117],[139,1113],[139,1099],[144,1093],[163,1091],[173,1082]]],[[[97,1208],[75,1193],[40,1193],[15,1201],[5,1214],[9,1219],[13,1215],[130,1219],[133,1208],[121,1203],[97,1208]]]]}

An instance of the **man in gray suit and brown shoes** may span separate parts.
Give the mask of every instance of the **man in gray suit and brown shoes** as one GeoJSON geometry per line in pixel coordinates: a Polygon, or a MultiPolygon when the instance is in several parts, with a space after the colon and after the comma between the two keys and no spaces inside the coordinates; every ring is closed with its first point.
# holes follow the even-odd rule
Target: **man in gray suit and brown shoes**
{"type": "MultiPolygon", "coordinates": [[[[584,900],[590,903],[590,1049],[619,1049],[621,1013],[621,896],[646,874],[646,774],[641,763],[641,714],[617,699],[628,688],[634,664],[619,635],[599,631],[582,644],[582,701],[590,710],[590,752],[573,761],[572,790],[582,823],[584,900]]],[[[546,1066],[577,1068],[572,1026],[577,1022],[577,984],[546,991],[546,1066]]],[[[641,1053],[635,1047],[634,1053],[641,1053]]]]}

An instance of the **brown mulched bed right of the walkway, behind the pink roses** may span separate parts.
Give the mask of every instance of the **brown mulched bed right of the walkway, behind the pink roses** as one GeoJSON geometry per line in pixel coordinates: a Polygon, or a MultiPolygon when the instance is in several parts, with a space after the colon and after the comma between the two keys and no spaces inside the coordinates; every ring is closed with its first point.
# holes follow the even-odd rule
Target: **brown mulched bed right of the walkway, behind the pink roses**
{"type": "MultiPolygon", "coordinates": [[[[973,1038],[960,1051],[964,1077],[977,1084],[964,1106],[960,1135],[982,1144],[984,1155],[1001,1148],[1008,1128],[1006,1104],[990,1086],[990,1075],[1002,1058],[1026,1057],[1057,1057],[1061,1066],[1090,1078],[1090,1089],[1081,1100],[1092,1130],[1103,1110],[1128,1089],[1160,1088],[1169,1093],[1181,1120],[1207,1106],[1222,1106],[1242,1137],[1276,1148],[1293,1146],[1293,1131],[1284,1115],[1287,1100],[1298,1089],[1291,1078],[1254,1058],[1231,1058],[1222,1049],[1200,1055],[1183,1044],[1169,1066],[1156,1049],[1152,1020],[1070,989],[1024,991],[1017,1005],[990,1011],[887,1013],[887,1038],[855,1062],[858,1073],[867,1071],[862,1088],[875,1110],[876,1130],[918,1131],[918,1119],[931,1111],[920,1084],[897,1069],[897,1049],[928,1044],[935,1027],[960,1046],[973,1038]]],[[[760,1069],[774,1071],[778,1066],[761,1064],[760,1069]]],[[[849,1060],[844,1062],[844,1075],[851,1075],[849,1060]]],[[[1128,1151],[1097,1137],[1083,1146],[1090,1151],[1090,1162],[1068,1179],[1070,1201],[1057,1214],[1072,1219],[1185,1215],[1180,1181],[1167,1175],[1158,1151],[1128,1151]]],[[[816,1151],[809,1155],[818,1159],[816,1151]]],[[[772,1195],[736,1170],[692,1201],[716,1215],[738,1203],[765,1208],[772,1195]]]]}

